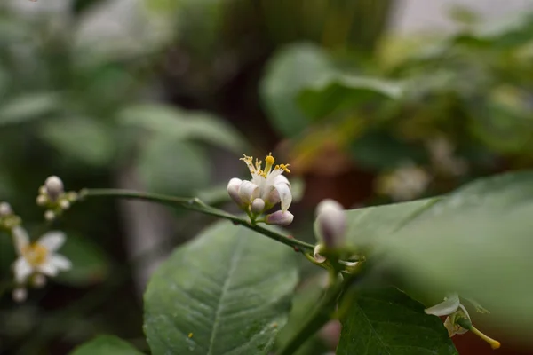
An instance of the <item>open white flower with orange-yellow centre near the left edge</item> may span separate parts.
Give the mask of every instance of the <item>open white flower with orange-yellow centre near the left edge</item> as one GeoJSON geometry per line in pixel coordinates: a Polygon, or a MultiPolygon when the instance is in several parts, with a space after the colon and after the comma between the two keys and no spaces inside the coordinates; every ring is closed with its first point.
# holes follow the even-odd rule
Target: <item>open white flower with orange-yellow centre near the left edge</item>
{"type": "Polygon", "coordinates": [[[29,242],[28,233],[20,226],[15,227],[12,233],[19,255],[13,263],[13,272],[18,284],[26,283],[28,277],[34,273],[53,277],[58,272],[68,271],[72,267],[68,258],[55,254],[65,242],[64,233],[45,233],[35,243],[29,242]]]}

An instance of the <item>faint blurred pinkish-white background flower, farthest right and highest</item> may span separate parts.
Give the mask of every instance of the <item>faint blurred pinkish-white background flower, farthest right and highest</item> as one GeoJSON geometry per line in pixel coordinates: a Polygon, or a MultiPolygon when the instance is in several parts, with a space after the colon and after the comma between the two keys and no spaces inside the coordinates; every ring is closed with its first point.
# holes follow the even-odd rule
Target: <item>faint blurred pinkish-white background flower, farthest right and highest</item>
{"type": "Polygon", "coordinates": [[[427,142],[429,156],[434,170],[444,176],[457,177],[464,175],[468,170],[465,159],[454,155],[454,146],[448,139],[438,137],[427,142]]]}

